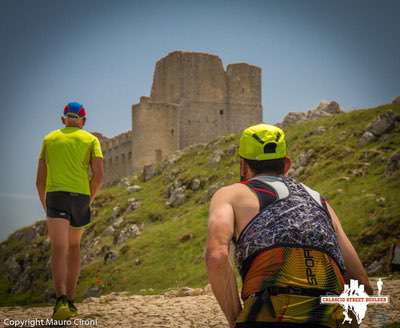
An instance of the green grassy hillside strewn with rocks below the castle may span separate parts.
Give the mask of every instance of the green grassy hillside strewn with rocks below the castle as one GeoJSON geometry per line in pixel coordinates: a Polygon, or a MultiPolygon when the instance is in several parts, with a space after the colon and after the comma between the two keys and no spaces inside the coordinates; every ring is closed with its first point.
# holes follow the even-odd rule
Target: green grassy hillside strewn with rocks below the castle
{"type": "MultiPolygon", "coordinates": [[[[400,105],[390,104],[285,128],[295,169],[304,166],[293,172],[329,199],[366,265],[385,256],[400,236],[400,170],[390,177],[384,174],[389,158],[400,151],[400,128],[359,146],[368,124],[389,109],[400,115],[400,105]]],[[[206,285],[203,254],[208,201],[217,188],[238,181],[238,139],[229,135],[178,152],[161,162],[156,175],[146,182],[140,176],[129,177],[130,185],[142,187],[139,191],[129,192],[124,184],[103,190],[84,237],[78,298],[110,291],[152,294],[206,285]],[[200,183],[198,190],[194,179],[200,183]],[[185,189],[185,198],[171,207],[166,202],[179,187],[185,189]],[[132,209],[135,202],[138,208],[132,209]],[[117,221],[115,231],[107,232],[117,221]],[[116,241],[133,225],[140,234],[116,241]]],[[[0,268],[1,305],[49,298],[48,256],[43,222],[15,232],[0,245],[5,264],[0,268]]]]}

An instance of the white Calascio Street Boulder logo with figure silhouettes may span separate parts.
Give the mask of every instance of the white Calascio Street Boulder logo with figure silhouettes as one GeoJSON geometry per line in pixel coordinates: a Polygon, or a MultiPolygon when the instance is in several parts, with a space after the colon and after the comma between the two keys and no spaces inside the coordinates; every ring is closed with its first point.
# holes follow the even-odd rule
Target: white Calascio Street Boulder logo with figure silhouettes
{"type": "Polygon", "coordinates": [[[389,296],[381,296],[383,281],[381,278],[377,281],[378,295],[369,296],[364,291],[364,285],[358,285],[358,280],[350,280],[350,286],[344,285],[344,291],[339,296],[321,296],[321,304],[340,304],[344,311],[343,323],[351,323],[349,316],[351,311],[356,317],[357,323],[361,324],[367,312],[368,304],[389,303],[389,296]]]}

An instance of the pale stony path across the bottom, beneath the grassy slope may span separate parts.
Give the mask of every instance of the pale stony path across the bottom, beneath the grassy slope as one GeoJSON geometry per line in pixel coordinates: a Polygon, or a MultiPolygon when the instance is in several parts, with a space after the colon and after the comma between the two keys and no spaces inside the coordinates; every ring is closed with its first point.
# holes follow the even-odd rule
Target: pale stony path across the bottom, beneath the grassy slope
{"type": "MultiPolygon", "coordinates": [[[[375,280],[372,280],[374,286],[375,280]]],[[[200,290],[201,292],[202,290],[200,290]]],[[[187,294],[198,294],[192,290],[187,294]]],[[[362,328],[379,328],[400,321],[400,280],[384,280],[383,294],[390,295],[390,304],[369,305],[362,328]]],[[[179,295],[179,293],[178,293],[179,295]]],[[[137,327],[137,328],[226,328],[225,318],[215,298],[209,294],[197,296],[129,296],[124,293],[89,298],[78,304],[81,315],[73,327],[137,327]]],[[[5,319],[45,319],[51,307],[0,309],[0,326],[5,319]]],[[[32,327],[30,325],[29,327],[32,327]]],[[[36,325],[39,327],[39,325],[36,325]]]]}

